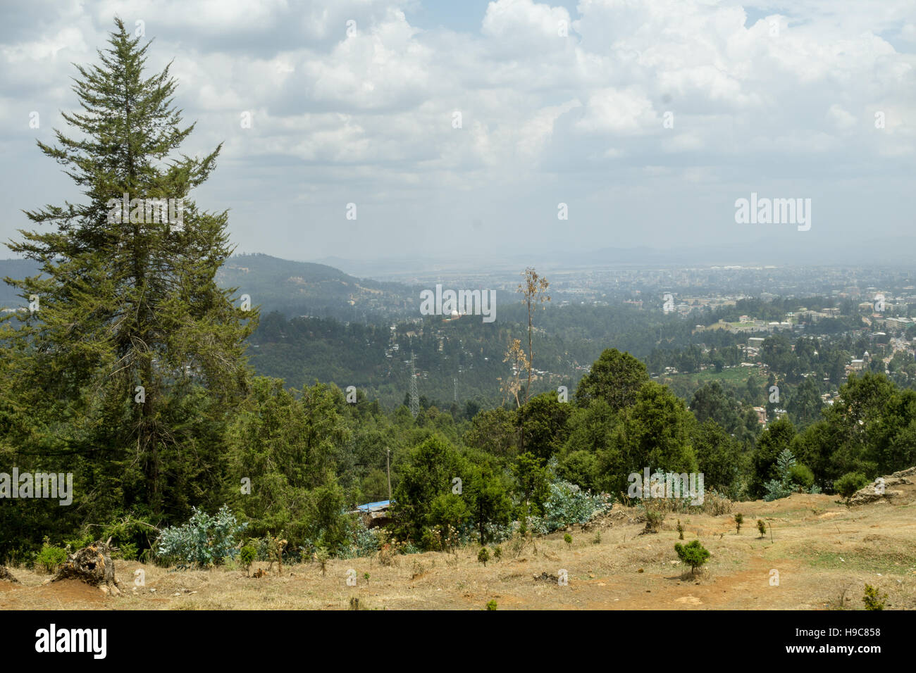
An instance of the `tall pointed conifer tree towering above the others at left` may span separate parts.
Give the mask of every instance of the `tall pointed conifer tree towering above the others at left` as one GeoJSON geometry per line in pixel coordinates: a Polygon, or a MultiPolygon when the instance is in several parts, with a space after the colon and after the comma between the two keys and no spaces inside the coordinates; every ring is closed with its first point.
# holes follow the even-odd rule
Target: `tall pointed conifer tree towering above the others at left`
{"type": "Polygon", "coordinates": [[[6,279],[38,310],[0,332],[16,390],[3,443],[21,464],[72,469],[82,521],[134,511],[164,522],[225,493],[224,432],[248,387],[257,313],[215,283],[233,251],[226,212],[189,198],[222,146],[178,153],[194,125],[172,106],[169,67],[145,78],[149,42],[114,23],[101,64],[76,66],[82,110],[63,114],[76,135],[38,142],[85,202],[27,211],[51,229],[9,244],[42,273],[6,279]],[[114,205],[125,194],[144,200],[127,223],[114,205]],[[174,208],[160,221],[146,200],[161,199],[181,200],[183,217],[174,208]]]}

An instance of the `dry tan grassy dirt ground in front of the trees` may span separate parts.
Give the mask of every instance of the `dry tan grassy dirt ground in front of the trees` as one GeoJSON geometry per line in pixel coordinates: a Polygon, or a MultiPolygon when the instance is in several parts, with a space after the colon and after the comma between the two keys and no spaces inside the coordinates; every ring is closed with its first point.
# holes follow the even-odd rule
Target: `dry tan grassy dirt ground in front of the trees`
{"type": "Polygon", "coordinates": [[[740,534],[728,514],[668,515],[659,533],[640,535],[636,512],[616,505],[587,530],[567,531],[570,546],[558,532],[513,558],[504,543],[503,558],[486,567],[477,562],[477,547],[398,556],[387,566],[377,557],[331,560],[324,575],[317,563],[284,566],[282,577],[274,566],[257,579],[242,570],[169,571],[115,561],[120,597],[78,581],[44,584],[47,575],[11,569],[21,584],[0,581],[0,610],[346,610],[354,598],[367,610],[482,610],[489,601],[499,610],[862,609],[866,583],[888,594],[887,609],[911,610],[916,486],[905,491],[893,503],[852,508],[830,495],[736,503],[732,514],[744,515],[740,534]],[[674,551],[679,517],[684,541],[699,538],[711,553],[695,577],[674,551]],[[766,537],[757,518],[768,526],[766,537]],[[136,570],[143,571],[141,586],[136,570]],[[349,570],[356,586],[347,585],[349,570]],[[560,570],[567,571],[566,586],[534,579],[560,570]]]}

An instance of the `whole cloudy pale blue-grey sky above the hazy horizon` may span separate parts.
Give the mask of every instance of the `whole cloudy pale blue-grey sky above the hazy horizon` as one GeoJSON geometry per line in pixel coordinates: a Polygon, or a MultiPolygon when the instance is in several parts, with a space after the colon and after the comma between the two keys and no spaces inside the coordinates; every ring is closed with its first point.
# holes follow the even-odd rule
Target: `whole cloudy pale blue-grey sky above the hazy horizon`
{"type": "Polygon", "coordinates": [[[27,226],[20,209],[79,198],[35,140],[65,128],[72,63],[97,62],[115,15],[155,38],[151,71],[174,61],[176,103],[198,123],[187,153],[224,142],[194,197],[230,209],[239,251],[539,255],[770,235],[854,247],[914,233],[916,0],[33,0],[0,12],[4,242],[27,226]],[[751,192],[811,199],[811,229],[736,223],[751,192]]]}

